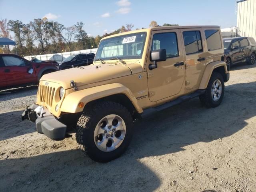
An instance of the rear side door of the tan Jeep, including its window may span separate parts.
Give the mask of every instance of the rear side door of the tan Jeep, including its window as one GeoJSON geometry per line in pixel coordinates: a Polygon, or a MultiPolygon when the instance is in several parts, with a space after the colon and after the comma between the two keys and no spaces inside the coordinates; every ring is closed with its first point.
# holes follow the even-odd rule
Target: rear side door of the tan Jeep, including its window
{"type": "Polygon", "coordinates": [[[186,89],[191,90],[198,88],[206,66],[202,29],[181,29],[181,33],[185,47],[186,89]]]}

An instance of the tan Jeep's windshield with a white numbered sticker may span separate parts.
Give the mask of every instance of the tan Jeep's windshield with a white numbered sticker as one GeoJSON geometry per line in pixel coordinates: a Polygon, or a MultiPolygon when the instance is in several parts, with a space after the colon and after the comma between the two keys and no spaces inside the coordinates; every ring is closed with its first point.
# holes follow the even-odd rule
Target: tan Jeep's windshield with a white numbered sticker
{"type": "Polygon", "coordinates": [[[95,59],[141,59],[145,40],[146,32],[133,33],[102,40],[98,47],[95,59]]]}

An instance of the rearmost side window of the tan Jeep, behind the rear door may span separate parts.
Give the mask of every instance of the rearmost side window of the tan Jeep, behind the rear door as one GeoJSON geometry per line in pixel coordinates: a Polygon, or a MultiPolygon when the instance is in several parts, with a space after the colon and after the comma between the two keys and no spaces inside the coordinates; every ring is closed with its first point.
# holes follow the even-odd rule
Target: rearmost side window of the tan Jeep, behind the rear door
{"type": "Polygon", "coordinates": [[[221,49],[220,33],[217,29],[205,30],[206,43],[208,51],[221,49]]]}

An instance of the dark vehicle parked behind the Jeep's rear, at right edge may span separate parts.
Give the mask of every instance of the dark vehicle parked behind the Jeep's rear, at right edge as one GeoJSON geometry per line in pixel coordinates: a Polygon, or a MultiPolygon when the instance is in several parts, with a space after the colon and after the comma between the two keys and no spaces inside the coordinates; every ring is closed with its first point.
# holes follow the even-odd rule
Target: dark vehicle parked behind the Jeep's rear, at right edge
{"type": "Polygon", "coordinates": [[[256,42],[252,37],[224,38],[224,52],[228,67],[240,62],[252,65],[256,60],[256,42]]]}

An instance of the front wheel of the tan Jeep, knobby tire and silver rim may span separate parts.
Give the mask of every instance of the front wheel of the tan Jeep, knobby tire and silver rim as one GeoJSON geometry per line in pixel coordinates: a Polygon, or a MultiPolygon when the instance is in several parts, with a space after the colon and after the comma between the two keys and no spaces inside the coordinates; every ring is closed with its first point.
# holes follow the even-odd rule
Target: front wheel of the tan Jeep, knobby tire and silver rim
{"type": "Polygon", "coordinates": [[[108,162],[124,153],[132,139],[130,112],[115,102],[100,102],[86,108],[76,126],[76,140],[88,156],[108,162]]]}

